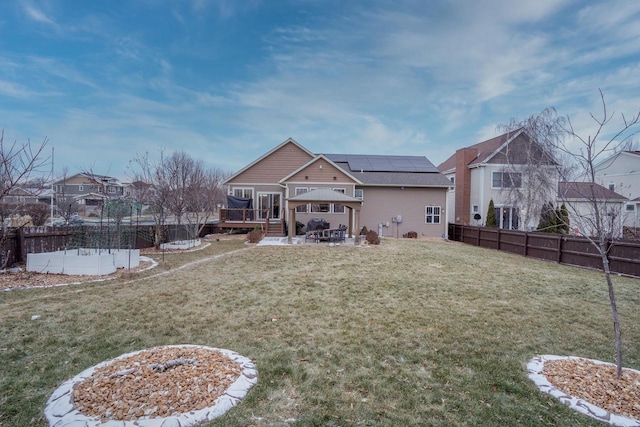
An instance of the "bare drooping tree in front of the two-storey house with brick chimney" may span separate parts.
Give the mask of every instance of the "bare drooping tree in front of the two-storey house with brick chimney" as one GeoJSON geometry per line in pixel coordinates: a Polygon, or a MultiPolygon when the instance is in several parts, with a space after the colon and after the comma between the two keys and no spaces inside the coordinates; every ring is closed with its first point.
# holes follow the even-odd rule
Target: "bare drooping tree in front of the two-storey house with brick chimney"
{"type": "Polygon", "coordinates": [[[558,168],[563,165],[556,149],[565,134],[563,122],[554,108],[546,108],[498,126],[513,134],[513,141],[500,153],[505,163],[503,175],[513,177],[502,192],[511,206],[520,207],[524,227],[533,226],[544,204],[555,199],[558,168]]]}

